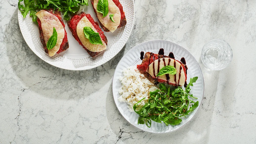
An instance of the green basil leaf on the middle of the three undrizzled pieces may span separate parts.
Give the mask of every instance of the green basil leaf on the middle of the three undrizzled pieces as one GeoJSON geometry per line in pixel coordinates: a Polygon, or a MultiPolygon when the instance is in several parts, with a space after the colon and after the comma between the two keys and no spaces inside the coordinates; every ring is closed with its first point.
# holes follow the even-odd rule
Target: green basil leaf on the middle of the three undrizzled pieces
{"type": "Polygon", "coordinates": [[[90,43],[94,45],[98,45],[98,44],[103,45],[100,39],[99,32],[98,33],[94,32],[91,27],[84,27],[83,33],[84,33],[84,36],[89,39],[90,43]]]}

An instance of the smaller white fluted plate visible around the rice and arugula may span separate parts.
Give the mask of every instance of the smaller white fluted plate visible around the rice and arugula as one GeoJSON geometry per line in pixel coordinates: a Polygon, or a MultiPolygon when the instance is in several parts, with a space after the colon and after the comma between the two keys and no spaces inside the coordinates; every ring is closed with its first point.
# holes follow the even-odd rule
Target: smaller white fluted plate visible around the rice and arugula
{"type": "Polygon", "coordinates": [[[122,116],[130,124],[144,131],[148,131],[152,133],[166,133],[166,132],[171,132],[181,128],[195,116],[195,114],[197,113],[197,110],[199,109],[202,103],[202,99],[204,96],[204,77],[198,62],[188,50],[170,41],[152,40],[152,41],[143,42],[133,47],[123,56],[123,58],[120,60],[120,62],[118,63],[115,69],[112,87],[113,87],[113,97],[114,97],[116,107],[118,108],[122,116]],[[164,49],[164,55],[167,55],[167,56],[169,52],[173,52],[176,60],[180,60],[182,57],[185,58],[187,67],[188,67],[187,83],[189,83],[190,78],[198,76],[198,80],[196,81],[196,83],[194,83],[194,86],[190,87],[191,88],[190,92],[193,94],[193,96],[198,98],[198,99],[195,99],[195,101],[199,102],[199,106],[196,109],[194,109],[194,111],[190,113],[190,115],[186,116],[186,118],[182,117],[182,122],[179,125],[166,126],[164,123],[161,124],[161,123],[156,123],[155,121],[152,121],[151,127],[148,128],[145,124],[144,125],[138,124],[139,115],[135,112],[130,112],[129,109],[127,108],[127,103],[118,101],[117,98],[120,97],[118,89],[122,85],[118,77],[120,75],[123,76],[123,70],[126,69],[127,67],[141,64],[142,62],[142,60],[140,59],[141,51],[144,51],[145,53],[146,52],[158,53],[160,48],[164,49]]]}

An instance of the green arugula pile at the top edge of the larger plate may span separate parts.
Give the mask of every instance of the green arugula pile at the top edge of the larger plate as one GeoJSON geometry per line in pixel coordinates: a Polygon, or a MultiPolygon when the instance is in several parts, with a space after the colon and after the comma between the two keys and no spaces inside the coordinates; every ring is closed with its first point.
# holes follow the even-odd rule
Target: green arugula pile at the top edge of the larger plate
{"type": "Polygon", "coordinates": [[[37,24],[36,10],[39,9],[59,9],[63,13],[65,20],[69,20],[68,14],[74,14],[80,9],[80,5],[88,5],[88,0],[19,0],[18,8],[25,18],[30,11],[32,20],[37,24]],[[20,2],[24,2],[20,4],[20,2]]]}

